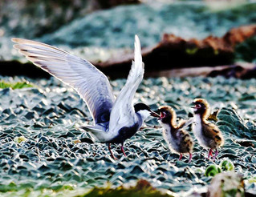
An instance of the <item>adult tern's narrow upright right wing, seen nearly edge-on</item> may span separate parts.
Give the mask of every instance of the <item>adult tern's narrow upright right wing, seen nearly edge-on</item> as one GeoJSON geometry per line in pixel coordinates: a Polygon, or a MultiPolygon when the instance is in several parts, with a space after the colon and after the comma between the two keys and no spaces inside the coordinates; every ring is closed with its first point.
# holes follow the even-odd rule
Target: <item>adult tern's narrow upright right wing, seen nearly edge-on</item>
{"type": "Polygon", "coordinates": [[[140,40],[137,35],[135,36],[134,46],[134,62],[132,61],[132,68],[123,89],[116,98],[110,115],[110,132],[118,131],[120,127],[124,127],[124,125],[128,127],[129,124],[132,125],[135,121],[135,111],[132,100],[144,75],[140,40]]]}

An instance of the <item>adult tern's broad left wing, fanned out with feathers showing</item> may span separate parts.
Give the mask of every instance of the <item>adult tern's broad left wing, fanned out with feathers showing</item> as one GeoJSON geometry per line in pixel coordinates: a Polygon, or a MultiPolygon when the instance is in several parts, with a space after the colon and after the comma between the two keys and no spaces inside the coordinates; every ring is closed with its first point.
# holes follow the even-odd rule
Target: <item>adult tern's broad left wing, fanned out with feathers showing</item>
{"type": "Polygon", "coordinates": [[[12,41],[18,43],[14,48],[36,66],[74,87],[87,103],[95,123],[108,122],[115,98],[108,78],[100,70],[87,60],[54,46],[22,38],[12,41]]]}

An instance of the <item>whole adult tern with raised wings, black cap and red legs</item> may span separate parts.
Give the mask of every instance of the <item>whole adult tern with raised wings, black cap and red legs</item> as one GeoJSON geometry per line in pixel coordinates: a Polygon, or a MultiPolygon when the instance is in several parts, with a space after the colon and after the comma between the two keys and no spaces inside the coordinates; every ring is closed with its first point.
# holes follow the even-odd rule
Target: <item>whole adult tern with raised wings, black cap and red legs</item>
{"type": "MultiPolygon", "coordinates": [[[[132,99],[144,75],[140,40],[135,37],[134,61],[128,79],[115,99],[108,78],[85,59],[76,57],[41,42],[13,38],[14,48],[36,66],[46,70],[67,85],[72,86],[87,103],[94,126],[83,127],[91,131],[101,143],[121,143],[141,127],[153,112],[143,103],[133,106],[132,99]]],[[[108,146],[110,149],[110,147],[108,146]]],[[[112,153],[112,152],[111,152],[112,153]]],[[[113,155],[112,155],[113,156],[113,155]]]]}

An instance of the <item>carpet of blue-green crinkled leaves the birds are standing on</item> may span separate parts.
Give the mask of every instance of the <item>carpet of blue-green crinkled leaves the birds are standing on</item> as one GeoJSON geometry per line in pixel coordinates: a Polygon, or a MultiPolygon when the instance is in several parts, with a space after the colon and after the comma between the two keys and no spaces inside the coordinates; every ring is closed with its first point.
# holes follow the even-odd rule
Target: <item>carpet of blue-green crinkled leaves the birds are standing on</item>
{"type": "MultiPolygon", "coordinates": [[[[111,82],[117,94],[125,80],[111,82]]],[[[205,159],[206,151],[197,140],[192,162],[178,161],[156,119],[148,119],[147,127],[125,143],[127,158],[119,147],[113,148],[119,156],[114,161],[104,144],[94,143],[89,133],[79,131],[80,126],[91,123],[91,116],[74,90],[54,78],[36,80],[36,84],[0,90],[0,192],[5,192],[1,195],[35,196],[46,191],[72,196],[72,192],[85,194],[85,189],[107,183],[120,188],[138,179],[147,180],[156,190],[189,194],[193,188],[209,184],[212,178],[205,176],[206,167],[228,159],[234,171],[246,179],[246,190],[255,192],[256,79],[149,78],[136,93],[136,103],[147,103],[153,110],[169,105],[177,111],[177,119],[192,117],[193,99],[207,99],[211,113],[219,111],[217,125],[226,139],[215,163],[205,159]],[[14,142],[22,136],[27,140],[14,142]]],[[[193,135],[190,128],[188,131],[193,135]]],[[[230,169],[229,164],[225,166],[230,169]]]]}

